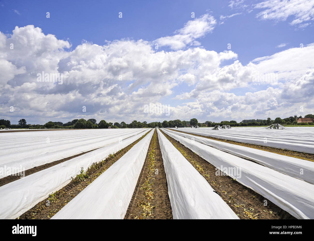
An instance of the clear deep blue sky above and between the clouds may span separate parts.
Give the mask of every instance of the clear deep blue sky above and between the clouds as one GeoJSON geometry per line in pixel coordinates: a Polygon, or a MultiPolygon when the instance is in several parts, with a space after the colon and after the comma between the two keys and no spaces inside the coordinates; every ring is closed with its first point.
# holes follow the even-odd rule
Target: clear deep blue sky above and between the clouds
{"type": "MultiPolygon", "coordinates": [[[[242,9],[229,8],[229,2],[74,1],[64,4],[64,1],[1,1],[4,5],[0,8],[1,32],[11,33],[15,26],[33,24],[45,34],[69,39],[73,47],[83,39],[98,45],[106,44],[105,40],[123,38],[152,41],[180,29],[183,23],[191,20],[191,12],[196,18],[210,12],[216,19],[242,12],[242,9]],[[20,15],[14,12],[16,8],[20,15]],[[46,12],[50,12],[51,18],[45,18],[46,12]],[[122,12],[122,18],[117,18],[119,12],[122,12]]],[[[253,9],[251,13],[225,20],[214,33],[201,39],[202,46],[221,52],[231,43],[231,50],[247,64],[260,56],[278,52],[276,46],[281,43],[289,42],[285,47],[289,48],[313,42],[313,28],[295,31],[287,22],[260,21],[255,18],[258,12],[259,9],[253,9]]],[[[287,21],[292,18],[290,16],[287,21]]]]}

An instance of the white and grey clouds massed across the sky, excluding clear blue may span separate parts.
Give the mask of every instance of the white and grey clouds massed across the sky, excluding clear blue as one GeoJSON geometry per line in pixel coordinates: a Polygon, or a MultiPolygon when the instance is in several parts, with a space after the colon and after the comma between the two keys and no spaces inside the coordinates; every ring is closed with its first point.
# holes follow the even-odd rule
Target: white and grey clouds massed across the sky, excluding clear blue
{"type": "Polygon", "coordinates": [[[243,14],[226,13],[217,20],[213,13],[204,13],[152,41],[126,36],[105,45],[82,40],[72,46],[32,24],[16,26],[12,34],[0,32],[1,118],[12,124],[21,118],[32,124],[75,118],[148,123],[313,113],[314,43],[289,46],[287,39],[272,46],[272,55],[247,64],[227,46],[224,51],[201,46],[204,36],[215,38],[220,24],[245,13],[248,21],[287,21],[293,31],[311,31],[306,28],[314,20],[314,1],[249,4],[230,1],[229,8],[243,14]],[[251,9],[263,11],[252,16],[251,9]],[[45,73],[61,73],[62,84],[46,82],[45,73]],[[168,106],[168,113],[145,112],[149,103],[168,106]],[[306,113],[300,113],[300,107],[306,113]]]}

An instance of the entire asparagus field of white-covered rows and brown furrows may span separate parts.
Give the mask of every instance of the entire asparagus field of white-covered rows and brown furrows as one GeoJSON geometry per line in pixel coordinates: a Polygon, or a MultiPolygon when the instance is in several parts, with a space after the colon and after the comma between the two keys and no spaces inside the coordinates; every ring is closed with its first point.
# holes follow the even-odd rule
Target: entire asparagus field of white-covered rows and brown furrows
{"type": "Polygon", "coordinates": [[[310,127],[0,137],[2,219],[314,219],[310,127]]]}

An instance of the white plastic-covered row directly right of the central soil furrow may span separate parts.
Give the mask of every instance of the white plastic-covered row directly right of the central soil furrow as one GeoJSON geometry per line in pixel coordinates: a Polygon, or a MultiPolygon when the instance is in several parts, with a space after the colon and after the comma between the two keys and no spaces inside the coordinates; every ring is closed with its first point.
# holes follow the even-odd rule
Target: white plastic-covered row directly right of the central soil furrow
{"type": "Polygon", "coordinates": [[[165,136],[158,138],[174,219],[239,219],[165,136]]]}

